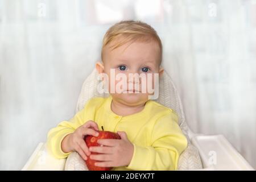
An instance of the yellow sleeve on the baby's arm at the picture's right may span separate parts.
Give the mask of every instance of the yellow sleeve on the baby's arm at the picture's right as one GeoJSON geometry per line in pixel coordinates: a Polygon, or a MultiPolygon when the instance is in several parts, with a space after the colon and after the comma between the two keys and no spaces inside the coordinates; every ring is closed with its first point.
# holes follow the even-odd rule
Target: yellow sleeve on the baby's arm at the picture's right
{"type": "Polygon", "coordinates": [[[181,152],[187,147],[187,138],[177,124],[177,115],[172,112],[156,121],[151,135],[151,146],[134,144],[134,153],[128,169],[176,170],[181,152]]]}

